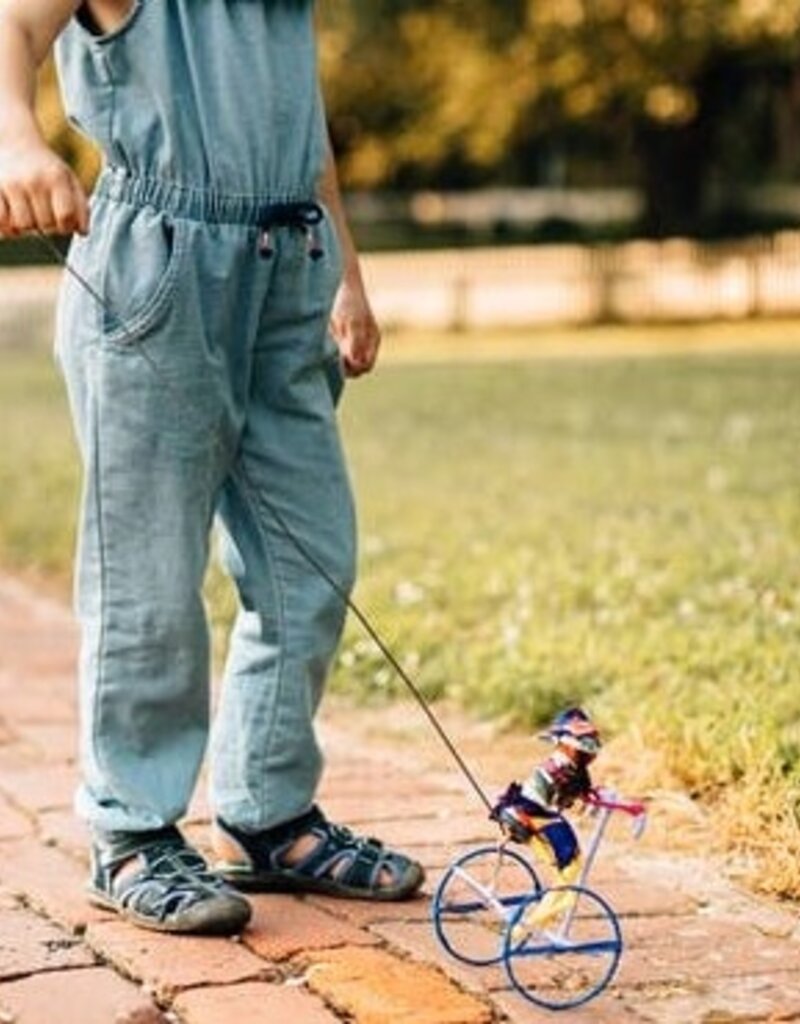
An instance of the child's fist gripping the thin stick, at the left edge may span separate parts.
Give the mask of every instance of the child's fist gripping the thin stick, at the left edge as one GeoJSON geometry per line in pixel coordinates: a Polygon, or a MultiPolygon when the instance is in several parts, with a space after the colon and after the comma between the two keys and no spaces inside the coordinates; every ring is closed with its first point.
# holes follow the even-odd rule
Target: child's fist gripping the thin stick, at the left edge
{"type": "Polygon", "coordinates": [[[89,205],[75,174],[43,142],[0,147],[0,236],[89,229],[89,205]]]}

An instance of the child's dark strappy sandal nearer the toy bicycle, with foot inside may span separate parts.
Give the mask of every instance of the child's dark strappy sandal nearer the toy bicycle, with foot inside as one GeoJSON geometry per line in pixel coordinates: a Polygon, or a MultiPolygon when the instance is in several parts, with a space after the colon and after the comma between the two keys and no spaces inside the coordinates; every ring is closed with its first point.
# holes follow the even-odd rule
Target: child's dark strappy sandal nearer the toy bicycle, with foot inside
{"type": "Polygon", "coordinates": [[[217,821],[214,869],[238,889],[324,893],[346,899],[408,899],[422,885],[422,865],[387,850],[376,839],[332,824],[318,807],[286,824],[259,833],[217,821]],[[309,853],[289,863],[297,840],[317,839],[309,853]]]}

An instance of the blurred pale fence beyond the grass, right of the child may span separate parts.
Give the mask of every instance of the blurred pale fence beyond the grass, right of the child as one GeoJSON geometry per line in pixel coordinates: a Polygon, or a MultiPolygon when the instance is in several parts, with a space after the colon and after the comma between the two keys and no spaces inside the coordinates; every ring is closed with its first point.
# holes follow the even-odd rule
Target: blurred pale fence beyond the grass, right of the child
{"type": "Polygon", "coordinates": [[[744,319],[800,314],[800,232],[735,244],[684,240],[373,254],[388,327],[744,319]]]}

